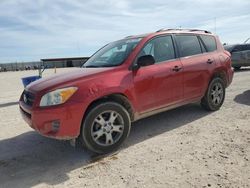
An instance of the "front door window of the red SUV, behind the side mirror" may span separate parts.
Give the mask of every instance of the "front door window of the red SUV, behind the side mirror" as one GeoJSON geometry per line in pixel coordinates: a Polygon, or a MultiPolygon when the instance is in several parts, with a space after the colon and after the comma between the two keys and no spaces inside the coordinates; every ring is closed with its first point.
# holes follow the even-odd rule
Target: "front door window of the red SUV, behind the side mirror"
{"type": "Polygon", "coordinates": [[[139,57],[152,55],[156,63],[175,59],[175,50],[171,36],[152,39],[140,52],[139,57]]]}

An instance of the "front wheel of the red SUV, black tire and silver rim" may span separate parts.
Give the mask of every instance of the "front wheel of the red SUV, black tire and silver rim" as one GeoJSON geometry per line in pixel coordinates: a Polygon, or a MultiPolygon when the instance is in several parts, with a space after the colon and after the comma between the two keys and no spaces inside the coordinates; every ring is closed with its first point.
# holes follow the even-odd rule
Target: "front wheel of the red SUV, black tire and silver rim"
{"type": "Polygon", "coordinates": [[[83,145],[94,153],[110,153],[116,150],[128,137],[130,127],[131,120],[129,113],[122,105],[115,102],[103,102],[94,106],[85,116],[82,124],[81,139],[83,145]],[[110,116],[108,116],[109,113],[110,116]],[[111,122],[110,119],[113,114],[116,114],[117,117],[111,125],[109,122],[111,122]],[[103,124],[103,122],[105,123],[103,124]],[[122,133],[116,132],[121,130],[122,133]],[[101,134],[102,136],[99,136],[101,134]],[[111,135],[112,139],[107,135],[111,135]],[[110,140],[108,140],[108,137],[110,140]]]}

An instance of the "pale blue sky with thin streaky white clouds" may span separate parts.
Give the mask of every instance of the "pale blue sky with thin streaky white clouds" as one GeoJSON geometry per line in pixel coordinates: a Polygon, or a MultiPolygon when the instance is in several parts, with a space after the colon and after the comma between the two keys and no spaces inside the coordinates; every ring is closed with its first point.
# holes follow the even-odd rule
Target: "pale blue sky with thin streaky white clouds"
{"type": "Polygon", "coordinates": [[[250,0],[0,0],[0,63],[90,56],[129,35],[179,27],[242,43],[250,0]]]}

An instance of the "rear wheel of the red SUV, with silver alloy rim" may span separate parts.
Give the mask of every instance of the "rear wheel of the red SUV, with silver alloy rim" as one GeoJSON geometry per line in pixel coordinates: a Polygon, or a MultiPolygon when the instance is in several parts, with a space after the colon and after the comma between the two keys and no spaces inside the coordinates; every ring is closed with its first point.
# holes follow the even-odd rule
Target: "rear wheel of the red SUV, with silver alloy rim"
{"type": "Polygon", "coordinates": [[[201,106],[208,111],[219,110],[225,99],[225,91],[224,81],[219,77],[213,78],[209,83],[205,96],[201,100],[201,106]],[[220,87],[220,90],[215,93],[216,86],[220,87]],[[219,94],[220,92],[221,94],[219,94]]]}

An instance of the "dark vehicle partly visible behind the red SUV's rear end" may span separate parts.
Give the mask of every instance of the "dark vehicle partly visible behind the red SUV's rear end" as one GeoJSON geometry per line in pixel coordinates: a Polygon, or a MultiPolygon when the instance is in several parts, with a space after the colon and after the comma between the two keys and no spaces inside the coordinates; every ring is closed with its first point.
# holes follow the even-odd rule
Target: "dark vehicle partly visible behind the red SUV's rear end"
{"type": "Polygon", "coordinates": [[[239,70],[241,67],[250,66],[250,44],[225,45],[225,50],[232,55],[232,66],[239,70]]]}

